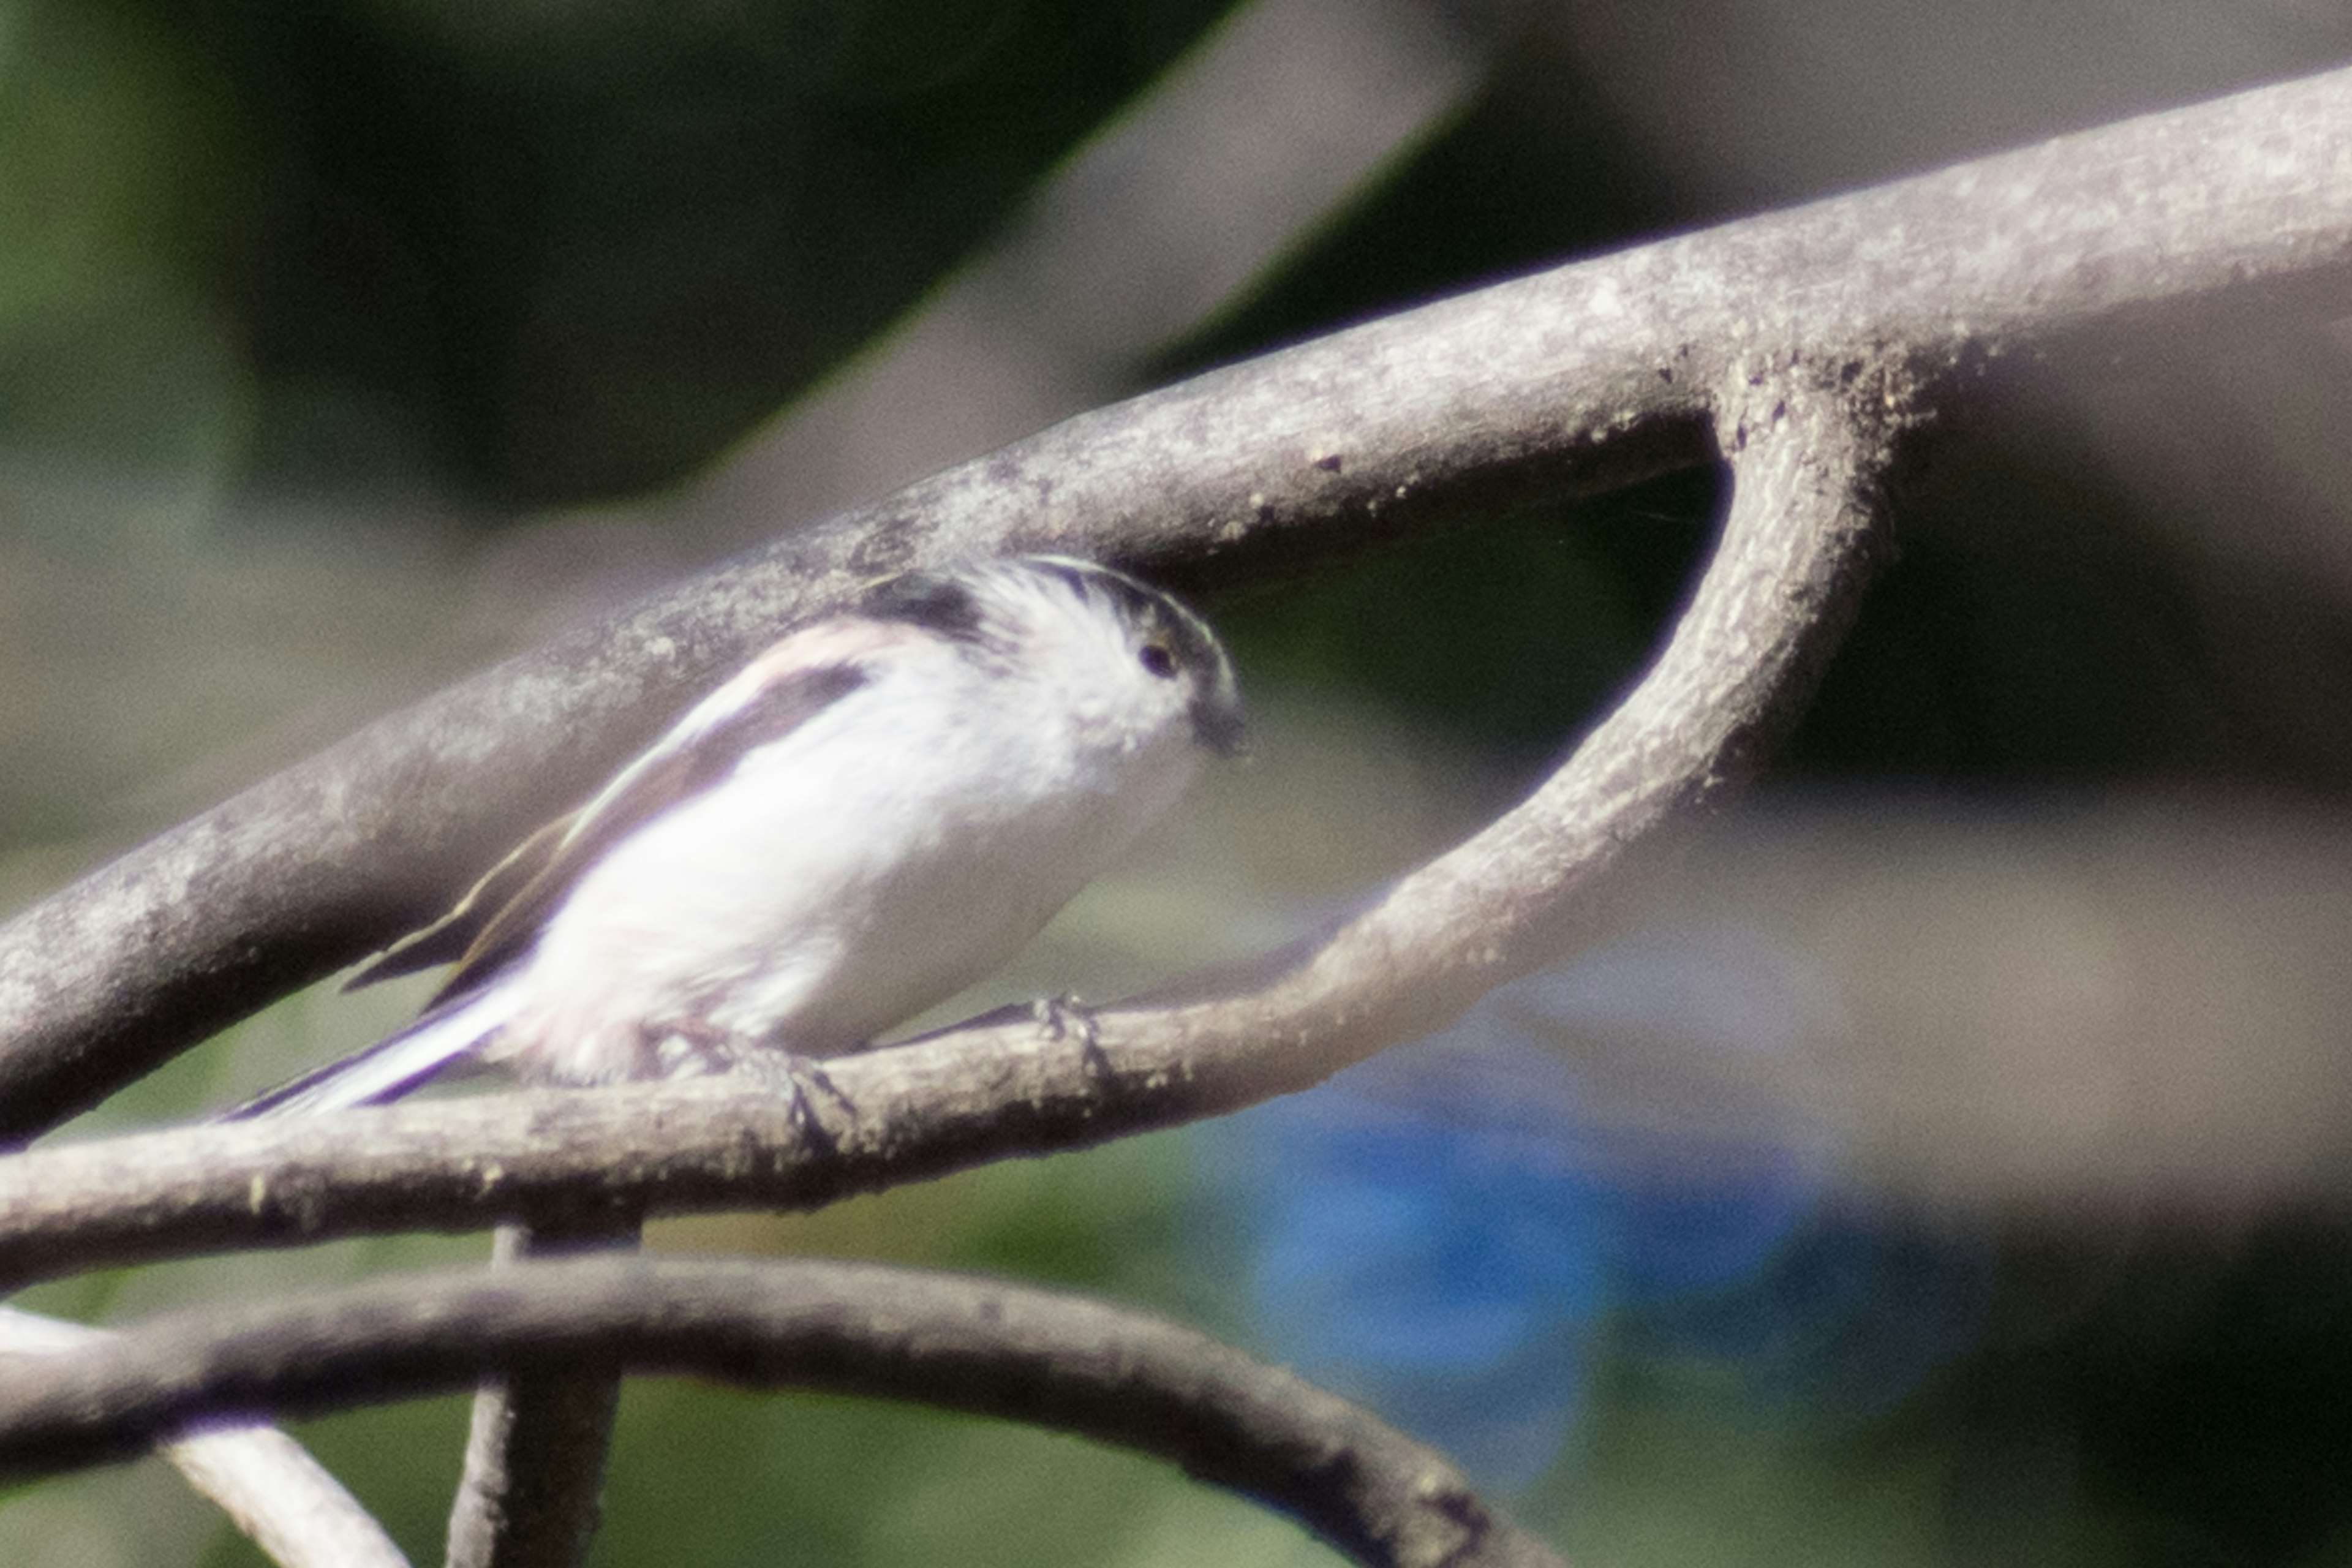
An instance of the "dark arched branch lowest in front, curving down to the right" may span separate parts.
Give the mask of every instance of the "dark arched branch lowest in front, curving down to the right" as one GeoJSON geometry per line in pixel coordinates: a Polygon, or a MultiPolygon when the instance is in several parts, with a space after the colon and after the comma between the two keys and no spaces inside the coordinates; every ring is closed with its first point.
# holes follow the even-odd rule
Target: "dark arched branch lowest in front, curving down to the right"
{"type": "Polygon", "coordinates": [[[1444,1455],[1141,1312],[849,1262],[564,1260],[209,1307],[0,1366],[0,1467],[122,1458],[221,1413],[318,1413],[579,1366],[910,1399],[1077,1432],[1291,1514],[1357,1563],[1559,1566],[1444,1455]]]}

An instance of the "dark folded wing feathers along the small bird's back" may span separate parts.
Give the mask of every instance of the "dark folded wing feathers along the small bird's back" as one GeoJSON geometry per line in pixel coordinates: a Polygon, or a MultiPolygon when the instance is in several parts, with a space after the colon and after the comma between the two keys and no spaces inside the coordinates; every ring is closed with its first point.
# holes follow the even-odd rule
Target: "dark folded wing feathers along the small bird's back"
{"type": "Polygon", "coordinates": [[[607,849],[720,783],[746,752],[781,741],[861,684],[866,672],[858,665],[795,670],[708,726],[670,731],[602,795],[524,839],[456,910],[390,947],[353,985],[454,959],[456,969],[428,1006],[480,987],[532,950],[539,929],[607,849]]]}

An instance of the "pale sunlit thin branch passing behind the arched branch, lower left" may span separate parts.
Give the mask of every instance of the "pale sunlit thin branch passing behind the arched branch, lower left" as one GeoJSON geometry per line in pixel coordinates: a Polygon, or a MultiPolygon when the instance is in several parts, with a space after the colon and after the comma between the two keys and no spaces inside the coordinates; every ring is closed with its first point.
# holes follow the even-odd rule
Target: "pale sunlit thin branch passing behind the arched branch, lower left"
{"type": "MultiPolygon", "coordinates": [[[[103,1328],[0,1307],[7,1356],[56,1356],[111,1338],[103,1328]]],[[[280,1568],[409,1568],[360,1500],[275,1427],[212,1427],[162,1443],[160,1453],[280,1568]]]]}

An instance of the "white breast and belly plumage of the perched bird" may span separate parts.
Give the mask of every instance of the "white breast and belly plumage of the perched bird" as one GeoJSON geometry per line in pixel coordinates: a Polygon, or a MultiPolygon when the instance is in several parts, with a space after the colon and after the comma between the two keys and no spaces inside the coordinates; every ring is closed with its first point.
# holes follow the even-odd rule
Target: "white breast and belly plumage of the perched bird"
{"type": "Polygon", "coordinates": [[[946,649],[884,665],[581,879],[501,1056],[637,1077],[680,1027],[840,1053],[997,969],[1192,773],[1181,724],[1122,719],[1098,684],[1030,691],[946,649]]]}

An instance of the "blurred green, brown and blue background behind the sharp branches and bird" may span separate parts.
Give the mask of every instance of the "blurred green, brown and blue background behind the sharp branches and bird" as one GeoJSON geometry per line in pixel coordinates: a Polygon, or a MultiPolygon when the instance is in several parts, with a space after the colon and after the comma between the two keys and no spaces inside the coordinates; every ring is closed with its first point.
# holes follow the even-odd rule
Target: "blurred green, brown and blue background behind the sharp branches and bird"
{"type": "MultiPolygon", "coordinates": [[[[0,0],[0,905],[1089,404],[2347,56],[2319,0],[0,0]]],[[[2345,1561],[2347,414],[2312,315],[2018,371],[1766,788],[1599,950],[1211,1128],[654,1244],[1162,1307],[1585,1563],[2345,1561]]],[[[1256,762],[967,1006],[1263,947],[1475,827],[1639,670],[1717,503],[1209,604],[1256,762]]],[[[414,1001],[296,997],[78,1131],[414,1001]]],[[[306,1427],[419,1561],[461,1432],[306,1427]]],[[[0,1540],[256,1561],[158,1465],[7,1493],[0,1540]]],[[[1068,1439],[647,1382],[597,1561],[1329,1556],[1068,1439]]]]}

